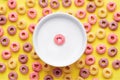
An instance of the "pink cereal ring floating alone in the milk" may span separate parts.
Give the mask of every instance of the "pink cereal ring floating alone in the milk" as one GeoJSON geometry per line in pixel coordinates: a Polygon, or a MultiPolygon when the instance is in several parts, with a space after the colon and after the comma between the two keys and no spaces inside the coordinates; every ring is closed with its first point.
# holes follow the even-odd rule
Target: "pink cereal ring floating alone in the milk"
{"type": "Polygon", "coordinates": [[[54,42],[57,45],[63,45],[65,43],[65,37],[62,34],[57,34],[54,37],[54,42]]]}

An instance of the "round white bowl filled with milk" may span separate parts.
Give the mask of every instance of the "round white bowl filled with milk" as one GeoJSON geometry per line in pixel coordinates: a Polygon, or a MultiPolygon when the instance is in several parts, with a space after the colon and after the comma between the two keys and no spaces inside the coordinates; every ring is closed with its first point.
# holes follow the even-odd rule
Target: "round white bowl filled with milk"
{"type": "Polygon", "coordinates": [[[83,25],[66,13],[50,14],[37,24],[33,45],[38,56],[52,66],[67,66],[77,61],[86,48],[87,38],[83,25]],[[65,36],[65,43],[54,43],[57,34],[65,36]]]}

